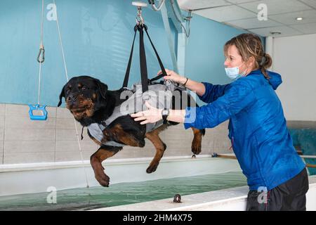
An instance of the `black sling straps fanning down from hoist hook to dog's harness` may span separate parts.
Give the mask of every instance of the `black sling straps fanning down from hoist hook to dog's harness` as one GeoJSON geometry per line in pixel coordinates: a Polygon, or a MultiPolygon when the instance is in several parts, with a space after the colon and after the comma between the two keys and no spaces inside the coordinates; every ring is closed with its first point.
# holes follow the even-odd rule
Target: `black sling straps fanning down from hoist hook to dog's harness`
{"type": "Polygon", "coordinates": [[[140,51],[140,77],[141,77],[141,82],[142,82],[143,93],[145,91],[148,91],[147,62],[146,62],[146,53],[145,53],[145,46],[144,46],[144,32],[143,32],[144,28],[145,28],[145,32],[147,34],[147,37],[150,40],[150,44],[152,45],[152,49],[154,49],[154,53],[157,56],[157,60],[159,62],[160,68],[162,70],[162,74],[159,75],[158,77],[154,77],[154,78],[150,79],[150,82],[166,76],[166,70],[164,69],[164,65],[162,64],[162,60],[159,58],[159,54],[158,54],[156,48],[154,47],[152,40],[150,39],[150,36],[147,32],[147,26],[146,25],[136,25],[134,27],[135,34],[134,34],[134,38],[133,38],[133,44],[131,47],[131,53],[129,56],[129,63],[128,63],[127,68],[126,68],[126,73],[125,73],[124,82],[123,82],[123,88],[127,87],[128,83],[129,83],[129,73],[131,70],[131,61],[133,58],[133,48],[134,48],[134,43],[135,43],[135,38],[136,38],[136,32],[138,30],[138,32],[140,34],[140,38],[139,38],[139,41],[140,41],[140,44],[139,44],[139,47],[140,47],[140,49],[139,49],[139,51],[140,51]]]}

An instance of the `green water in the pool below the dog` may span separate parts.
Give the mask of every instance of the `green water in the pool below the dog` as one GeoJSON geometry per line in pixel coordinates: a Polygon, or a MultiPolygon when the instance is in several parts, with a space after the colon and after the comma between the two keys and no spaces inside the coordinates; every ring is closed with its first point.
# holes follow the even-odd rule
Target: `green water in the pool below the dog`
{"type": "Polygon", "coordinates": [[[136,183],[112,184],[109,188],[75,188],[57,191],[57,203],[48,204],[49,193],[0,197],[0,210],[92,210],[189,195],[225,188],[246,186],[242,172],[159,179],[136,183]]]}

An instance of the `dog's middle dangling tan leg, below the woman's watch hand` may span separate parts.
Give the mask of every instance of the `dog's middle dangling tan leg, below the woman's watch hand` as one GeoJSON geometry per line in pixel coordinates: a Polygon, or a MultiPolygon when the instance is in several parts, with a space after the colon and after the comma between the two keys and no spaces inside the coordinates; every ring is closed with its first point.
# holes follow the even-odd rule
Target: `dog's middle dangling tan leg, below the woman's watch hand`
{"type": "Polygon", "coordinates": [[[159,138],[159,132],[166,129],[166,127],[167,126],[164,124],[157,129],[145,134],[145,137],[150,140],[154,145],[154,148],[156,148],[156,154],[154,155],[152,162],[150,162],[150,166],[146,169],[148,174],[156,171],[159,162],[162,159],[162,155],[164,155],[164,150],[166,150],[166,144],[162,142],[162,139],[159,138]]]}

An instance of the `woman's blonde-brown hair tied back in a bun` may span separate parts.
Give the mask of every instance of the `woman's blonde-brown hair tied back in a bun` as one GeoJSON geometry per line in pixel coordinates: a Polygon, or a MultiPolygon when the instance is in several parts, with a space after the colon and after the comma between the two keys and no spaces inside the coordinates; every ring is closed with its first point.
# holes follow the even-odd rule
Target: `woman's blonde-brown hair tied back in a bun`
{"type": "Polygon", "coordinates": [[[254,70],[260,69],[263,75],[269,79],[267,69],[272,65],[272,58],[268,53],[265,53],[261,39],[255,34],[239,34],[226,42],[224,53],[228,54],[230,46],[235,45],[239,51],[242,60],[247,62],[249,58],[254,57],[254,70]]]}

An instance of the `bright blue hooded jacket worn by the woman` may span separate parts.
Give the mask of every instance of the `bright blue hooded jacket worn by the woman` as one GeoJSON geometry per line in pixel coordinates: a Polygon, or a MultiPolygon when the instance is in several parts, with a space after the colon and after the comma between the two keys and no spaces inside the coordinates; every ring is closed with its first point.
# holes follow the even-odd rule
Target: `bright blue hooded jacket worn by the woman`
{"type": "Polygon", "coordinates": [[[226,85],[203,83],[199,98],[208,105],[186,108],[185,129],[216,127],[230,119],[228,137],[250,190],[269,190],[301,172],[298,156],[287,129],[281,102],[275,93],[281,76],[261,70],[226,85]]]}

